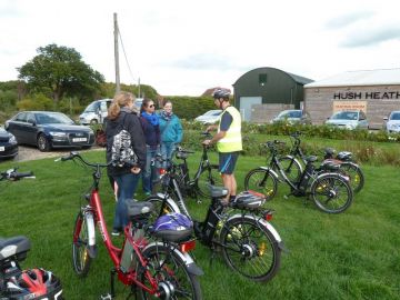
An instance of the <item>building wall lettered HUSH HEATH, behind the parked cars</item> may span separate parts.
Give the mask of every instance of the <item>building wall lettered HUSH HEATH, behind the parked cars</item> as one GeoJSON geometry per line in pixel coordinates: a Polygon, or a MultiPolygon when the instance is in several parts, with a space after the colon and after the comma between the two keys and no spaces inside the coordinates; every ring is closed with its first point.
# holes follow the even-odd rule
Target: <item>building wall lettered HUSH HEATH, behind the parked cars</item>
{"type": "Polygon", "coordinates": [[[304,109],[313,124],[323,123],[340,106],[364,110],[370,127],[382,128],[383,118],[400,110],[400,84],[304,88],[304,109]]]}

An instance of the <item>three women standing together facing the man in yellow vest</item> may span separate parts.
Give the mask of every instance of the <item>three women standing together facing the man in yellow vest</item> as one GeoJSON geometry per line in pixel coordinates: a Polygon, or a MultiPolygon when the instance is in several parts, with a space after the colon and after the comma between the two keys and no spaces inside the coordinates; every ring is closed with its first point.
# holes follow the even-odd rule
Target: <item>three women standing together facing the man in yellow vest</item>
{"type": "Polygon", "coordinates": [[[113,138],[122,129],[130,134],[132,150],[137,157],[134,166],[110,164],[108,174],[117,183],[117,207],[112,234],[119,236],[128,223],[124,200],[133,197],[140,179],[146,194],[152,190],[156,154],[163,159],[171,159],[177,143],[182,140],[182,124],[172,112],[169,100],[162,102],[162,111],[156,113],[156,106],[151,99],[143,99],[140,111],[134,106],[134,96],[130,92],[119,92],[108,111],[106,120],[107,161],[111,161],[113,138]]]}

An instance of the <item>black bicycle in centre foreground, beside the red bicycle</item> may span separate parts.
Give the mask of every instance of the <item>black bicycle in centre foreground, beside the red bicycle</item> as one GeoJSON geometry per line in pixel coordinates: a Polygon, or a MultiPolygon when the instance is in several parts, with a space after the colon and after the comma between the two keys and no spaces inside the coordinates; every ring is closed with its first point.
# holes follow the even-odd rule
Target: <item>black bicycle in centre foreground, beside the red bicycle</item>
{"type": "MultiPolygon", "coordinates": [[[[177,156],[187,152],[180,149],[177,156]]],[[[159,212],[153,216],[154,219],[169,212],[180,212],[191,218],[180,191],[177,170],[179,166],[171,162],[161,178],[163,192],[146,199],[159,212]]],[[[221,249],[226,263],[243,277],[254,281],[273,278],[284,247],[278,231],[269,222],[273,211],[262,208],[264,196],[246,191],[239,193],[234,202],[224,206],[221,200],[227,197],[228,190],[212,186],[208,188],[211,203],[206,219],[202,222],[193,221],[196,237],[212,251],[221,249]]]]}

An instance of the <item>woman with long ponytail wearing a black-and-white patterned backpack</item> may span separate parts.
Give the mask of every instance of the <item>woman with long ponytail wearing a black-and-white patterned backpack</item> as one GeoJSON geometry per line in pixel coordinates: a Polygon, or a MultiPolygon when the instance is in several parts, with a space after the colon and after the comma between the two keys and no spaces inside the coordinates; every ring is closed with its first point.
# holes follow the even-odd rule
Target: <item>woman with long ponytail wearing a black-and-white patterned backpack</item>
{"type": "Polygon", "coordinates": [[[133,197],[140,171],[146,166],[146,140],[139,117],[134,113],[133,102],[132,93],[117,93],[109,108],[106,123],[106,158],[107,162],[111,162],[108,174],[118,184],[112,236],[119,236],[128,224],[124,201],[133,197]]]}

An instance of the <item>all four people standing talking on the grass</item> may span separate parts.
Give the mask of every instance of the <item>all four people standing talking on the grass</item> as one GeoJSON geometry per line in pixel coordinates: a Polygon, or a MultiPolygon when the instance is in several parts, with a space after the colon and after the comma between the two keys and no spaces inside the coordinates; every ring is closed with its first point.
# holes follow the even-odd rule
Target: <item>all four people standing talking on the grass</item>
{"type": "MultiPolygon", "coordinates": [[[[242,150],[241,116],[230,106],[230,91],[216,89],[214,104],[222,110],[217,126],[210,126],[207,131],[218,130],[206,146],[217,144],[219,152],[219,171],[223,186],[229,190],[226,204],[234,201],[237,181],[233,174],[234,167],[242,150]]],[[[144,99],[140,111],[134,107],[134,96],[130,92],[119,92],[108,112],[106,121],[107,161],[111,161],[113,137],[126,129],[131,137],[131,147],[137,157],[134,166],[114,166],[108,168],[109,177],[118,184],[118,201],[113,220],[112,234],[119,236],[128,223],[124,200],[132,198],[140,178],[146,194],[152,190],[153,158],[161,153],[164,160],[171,159],[177,143],[182,140],[182,126],[180,119],[172,112],[169,100],[162,102],[162,110],[156,113],[156,106],[151,99],[144,99]]]]}

